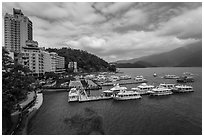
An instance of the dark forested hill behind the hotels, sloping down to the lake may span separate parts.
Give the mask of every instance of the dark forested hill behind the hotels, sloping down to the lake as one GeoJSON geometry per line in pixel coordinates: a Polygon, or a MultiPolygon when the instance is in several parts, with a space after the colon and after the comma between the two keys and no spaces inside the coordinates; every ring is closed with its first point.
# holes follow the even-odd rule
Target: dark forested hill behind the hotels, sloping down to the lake
{"type": "Polygon", "coordinates": [[[69,62],[77,62],[78,68],[86,72],[94,71],[115,71],[113,66],[110,66],[103,59],[90,54],[83,50],[61,48],[61,49],[46,49],[49,52],[56,52],[59,56],[65,57],[65,68],[68,68],[69,62]]]}

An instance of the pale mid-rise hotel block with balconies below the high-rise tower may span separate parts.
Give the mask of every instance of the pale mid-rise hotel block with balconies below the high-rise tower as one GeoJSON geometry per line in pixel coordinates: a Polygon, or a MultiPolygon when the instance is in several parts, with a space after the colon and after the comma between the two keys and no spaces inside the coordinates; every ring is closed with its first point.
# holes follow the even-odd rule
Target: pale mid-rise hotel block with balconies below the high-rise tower
{"type": "Polygon", "coordinates": [[[55,52],[46,52],[39,47],[23,47],[19,58],[19,63],[27,66],[35,74],[63,72],[65,67],[64,57],[55,52]]]}

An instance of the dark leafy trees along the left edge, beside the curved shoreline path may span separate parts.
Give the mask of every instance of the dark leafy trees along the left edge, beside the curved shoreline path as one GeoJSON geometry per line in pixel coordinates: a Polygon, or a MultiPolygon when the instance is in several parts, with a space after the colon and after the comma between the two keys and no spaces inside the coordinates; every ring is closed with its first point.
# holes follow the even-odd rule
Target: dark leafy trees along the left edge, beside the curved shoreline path
{"type": "Polygon", "coordinates": [[[29,76],[30,70],[22,65],[14,64],[9,53],[2,49],[2,117],[3,130],[7,132],[11,128],[10,114],[15,104],[27,97],[31,91],[30,84],[34,82],[29,76]],[[6,130],[6,131],[5,131],[6,130]]]}

